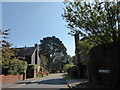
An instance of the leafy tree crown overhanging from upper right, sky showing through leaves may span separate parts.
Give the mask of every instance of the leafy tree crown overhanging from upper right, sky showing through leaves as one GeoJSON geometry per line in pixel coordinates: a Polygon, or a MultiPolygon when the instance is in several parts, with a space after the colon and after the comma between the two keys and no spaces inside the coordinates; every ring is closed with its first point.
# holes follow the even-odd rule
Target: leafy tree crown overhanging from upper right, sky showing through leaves
{"type": "Polygon", "coordinates": [[[119,2],[68,2],[62,17],[67,27],[96,44],[120,40],[119,2]]]}

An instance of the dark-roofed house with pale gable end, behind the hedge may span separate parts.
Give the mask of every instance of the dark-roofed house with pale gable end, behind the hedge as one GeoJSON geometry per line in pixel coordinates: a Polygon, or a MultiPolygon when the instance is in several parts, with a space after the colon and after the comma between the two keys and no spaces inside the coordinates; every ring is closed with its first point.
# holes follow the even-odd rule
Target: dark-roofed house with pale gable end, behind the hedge
{"type": "MultiPolygon", "coordinates": [[[[15,48],[15,57],[20,60],[27,61],[28,65],[37,65],[37,69],[33,71],[33,77],[40,71],[40,56],[39,56],[39,45],[35,44],[34,47],[22,47],[15,48]]],[[[29,72],[29,70],[27,70],[29,72]]],[[[31,74],[30,72],[26,74],[31,74]]]]}

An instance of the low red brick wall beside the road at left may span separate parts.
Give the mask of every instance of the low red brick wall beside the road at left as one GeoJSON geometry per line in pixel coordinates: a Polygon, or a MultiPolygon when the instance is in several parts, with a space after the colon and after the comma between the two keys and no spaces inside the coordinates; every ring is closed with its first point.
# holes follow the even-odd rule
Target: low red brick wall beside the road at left
{"type": "Polygon", "coordinates": [[[21,75],[0,75],[0,78],[2,78],[2,80],[0,80],[0,83],[8,83],[8,82],[15,82],[15,81],[19,81],[19,80],[23,80],[23,74],[21,75]]]}

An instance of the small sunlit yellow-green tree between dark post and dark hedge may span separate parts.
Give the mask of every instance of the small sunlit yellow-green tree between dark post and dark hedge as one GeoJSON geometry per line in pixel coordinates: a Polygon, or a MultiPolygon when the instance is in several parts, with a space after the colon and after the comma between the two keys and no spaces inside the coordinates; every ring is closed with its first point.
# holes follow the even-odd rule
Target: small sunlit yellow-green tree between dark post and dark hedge
{"type": "Polygon", "coordinates": [[[88,79],[89,81],[92,81],[92,76],[91,76],[91,66],[90,66],[90,50],[95,46],[94,42],[90,41],[90,37],[84,37],[78,42],[78,48],[80,48],[80,55],[82,60],[82,64],[87,67],[87,72],[88,72],[88,79]]]}

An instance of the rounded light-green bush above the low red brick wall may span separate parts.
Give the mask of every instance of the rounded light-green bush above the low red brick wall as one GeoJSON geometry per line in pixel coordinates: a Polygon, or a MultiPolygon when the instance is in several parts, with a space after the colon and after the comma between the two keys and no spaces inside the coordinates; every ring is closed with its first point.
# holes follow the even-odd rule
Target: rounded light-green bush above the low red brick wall
{"type": "Polygon", "coordinates": [[[26,61],[21,61],[17,58],[14,58],[11,60],[8,74],[13,74],[13,75],[22,74],[26,72],[26,69],[27,69],[26,61]]]}

